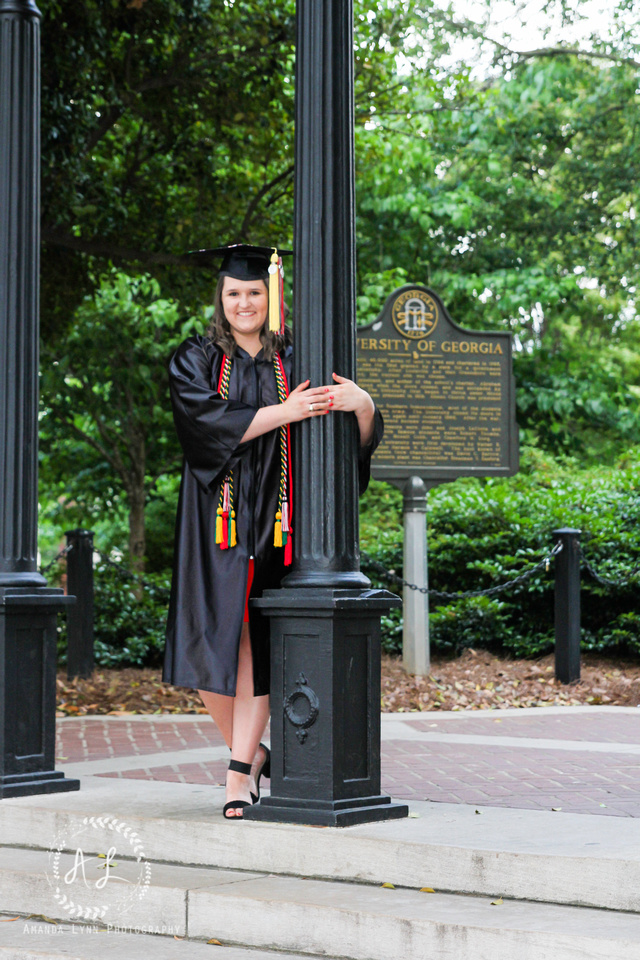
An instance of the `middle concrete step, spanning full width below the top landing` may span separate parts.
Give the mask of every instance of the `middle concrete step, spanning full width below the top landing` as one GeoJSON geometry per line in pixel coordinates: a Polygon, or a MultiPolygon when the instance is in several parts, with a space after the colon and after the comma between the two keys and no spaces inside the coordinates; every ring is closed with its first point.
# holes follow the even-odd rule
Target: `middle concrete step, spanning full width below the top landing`
{"type": "MultiPolygon", "coordinates": [[[[62,887],[60,878],[68,876],[74,857],[60,854],[57,864],[62,887]]],[[[0,849],[2,908],[9,915],[44,914],[68,921],[69,904],[56,896],[56,880],[50,883],[41,865],[41,851],[0,849]]],[[[104,918],[111,915],[120,928],[151,927],[160,934],[153,937],[159,948],[167,942],[178,944],[174,936],[187,937],[179,943],[185,957],[190,957],[187,944],[212,937],[223,945],[259,948],[263,954],[277,950],[349,960],[640,956],[640,916],[619,911],[506,899],[492,904],[487,897],[162,864],[151,865],[148,878],[136,887],[140,863],[120,860],[113,869],[120,879],[111,878],[96,890],[96,862],[85,863],[88,882],[74,882],[73,910],[87,919],[87,913],[101,906],[104,918]],[[128,896],[131,892],[135,895],[128,896]]],[[[7,948],[7,938],[16,936],[15,931],[6,932],[11,926],[0,924],[0,944],[7,948]]],[[[102,936],[118,942],[115,934],[102,936]]],[[[87,938],[75,955],[89,960],[92,954],[86,951],[102,949],[99,934],[92,937],[96,945],[85,947],[87,938]]],[[[24,939],[25,948],[33,952],[27,934],[24,939]]],[[[151,942],[148,935],[145,940],[151,942]]],[[[55,956],[55,944],[50,943],[48,951],[44,956],[55,956]]],[[[17,956],[24,960],[25,954],[17,956]]]]}

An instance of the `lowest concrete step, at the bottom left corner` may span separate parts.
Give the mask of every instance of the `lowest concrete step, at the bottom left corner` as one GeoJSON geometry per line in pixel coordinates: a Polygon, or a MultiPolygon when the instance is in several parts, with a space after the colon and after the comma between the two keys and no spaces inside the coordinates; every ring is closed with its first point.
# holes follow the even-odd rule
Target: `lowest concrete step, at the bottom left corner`
{"type": "MultiPolygon", "coordinates": [[[[79,923],[48,924],[0,914],[0,960],[212,960],[212,944],[144,933],[112,933],[79,923]]],[[[218,954],[214,953],[213,957],[218,954]]],[[[299,954],[225,945],[221,960],[300,960],[299,954]]],[[[307,958],[308,960],[308,958],[307,958]]],[[[320,958],[314,958],[320,960],[320,958]]]]}

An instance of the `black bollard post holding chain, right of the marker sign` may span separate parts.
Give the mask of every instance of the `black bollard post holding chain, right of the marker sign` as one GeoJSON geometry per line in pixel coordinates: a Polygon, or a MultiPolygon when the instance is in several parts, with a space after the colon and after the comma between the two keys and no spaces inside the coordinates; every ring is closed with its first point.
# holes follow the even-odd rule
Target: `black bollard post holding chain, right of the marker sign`
{"type": "Polygon", "coordinates": [[[580,530],[563,527],[553,535],[562,543],[556,556],[556,677],[580,679],[580,530]]]}

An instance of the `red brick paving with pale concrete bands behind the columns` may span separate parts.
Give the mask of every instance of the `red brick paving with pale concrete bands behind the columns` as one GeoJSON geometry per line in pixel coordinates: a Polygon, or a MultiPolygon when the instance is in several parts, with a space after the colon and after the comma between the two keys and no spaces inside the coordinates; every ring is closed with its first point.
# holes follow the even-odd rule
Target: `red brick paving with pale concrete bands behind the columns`
{"type": "MultiPolygon", "coordinates": [[[[66,776],[224,783],[205,715],[56,721],[66,776]]],[[[549,707],[382,715],[382,786],[397,799],[640,818],[640,710],[549,707]]]]}

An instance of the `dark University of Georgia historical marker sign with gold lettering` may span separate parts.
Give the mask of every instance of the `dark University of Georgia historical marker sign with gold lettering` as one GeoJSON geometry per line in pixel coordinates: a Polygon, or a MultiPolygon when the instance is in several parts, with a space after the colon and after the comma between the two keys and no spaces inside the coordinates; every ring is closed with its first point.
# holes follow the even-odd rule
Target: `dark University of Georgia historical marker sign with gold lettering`
{"type": "Polygon", "coordinates": [[[373,476],[429,485],[518,469],[511,334],[464,330],[411,284],[358,327],[358,383],[385,419],[373,476]]]}

